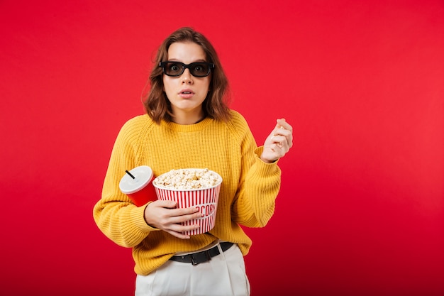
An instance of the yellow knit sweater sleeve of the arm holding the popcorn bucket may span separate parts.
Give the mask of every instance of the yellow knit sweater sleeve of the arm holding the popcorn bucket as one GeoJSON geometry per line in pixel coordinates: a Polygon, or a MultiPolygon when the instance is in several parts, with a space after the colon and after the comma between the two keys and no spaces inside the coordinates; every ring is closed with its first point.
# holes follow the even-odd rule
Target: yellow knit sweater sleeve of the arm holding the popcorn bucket
{"type": "Polygon", "coordinates": [[[128,121],[118,133],[106,171],[101,199],[93,209],[99,229],[119,246],[133,247],[157,229],[146,224],[145,206],[136,207],[118,187],[125,170],[136,166],[138,137],[143,124],[136,117],[128,121]]]}

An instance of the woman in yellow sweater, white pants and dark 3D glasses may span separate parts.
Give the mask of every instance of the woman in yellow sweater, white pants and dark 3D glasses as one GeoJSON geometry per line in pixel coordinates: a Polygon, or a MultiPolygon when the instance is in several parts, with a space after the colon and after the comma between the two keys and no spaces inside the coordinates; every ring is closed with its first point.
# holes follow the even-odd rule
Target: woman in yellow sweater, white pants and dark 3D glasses
{"type": "Polygon", "coordinates": [[[180,28],[160,46],[145,100],[147,114],[121,128],[111,153],[102,197],[94,207],[99,229],[133,248],[135,295],[250,295],[243,256],[252,241],[240,225],[262,227],[280,187],[277,160],[292,146],[292,126],[277,119],[257,147],[248,124],[224,100],[228,81],[216,51],[192,28],[180,28]],[[119,190],[125,170],[148,165],[155,175],[208,168],[223,182],[216,225],[181,223],[201,216],[156,200],[135,207],[119,190]]]}

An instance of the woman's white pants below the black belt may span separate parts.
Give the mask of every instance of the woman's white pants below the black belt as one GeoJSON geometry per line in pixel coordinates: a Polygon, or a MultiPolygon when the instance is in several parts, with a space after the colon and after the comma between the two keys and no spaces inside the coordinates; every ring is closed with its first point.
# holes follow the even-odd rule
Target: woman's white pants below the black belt
{"type": "Polygon", "coordinates": [[[149,275],[137,275],[135,296],[249,296],[250,283],[238,245],[192,265],[167,261],[149,275]]]}

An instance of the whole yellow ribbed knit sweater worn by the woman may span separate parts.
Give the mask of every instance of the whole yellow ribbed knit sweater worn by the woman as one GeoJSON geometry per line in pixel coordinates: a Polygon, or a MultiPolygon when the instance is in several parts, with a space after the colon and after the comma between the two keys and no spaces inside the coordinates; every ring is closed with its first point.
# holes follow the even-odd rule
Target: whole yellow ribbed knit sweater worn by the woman
{"type": "Polygon", "coordinates": [[[148,275],[176,252],[195,251],[216,239],[238,243],[245,256],[252,241],[240,225],[263,227],[274,212],[281,171],[277,163],[260,160],[247,122],[236,111],[227,123],[204,119],[192,125],[136,116],[123,125],[114,144],[102,197],[94,206],[94,221],[119,246],[132,247],[135,273],[148,275]],[[135,207],[118,183],[139,165],[149,165],[155,176],[172,169],[208,168],[223,182],[216,226],[206,234],[178,239],[146,224],[146,207],[135,207]]]}

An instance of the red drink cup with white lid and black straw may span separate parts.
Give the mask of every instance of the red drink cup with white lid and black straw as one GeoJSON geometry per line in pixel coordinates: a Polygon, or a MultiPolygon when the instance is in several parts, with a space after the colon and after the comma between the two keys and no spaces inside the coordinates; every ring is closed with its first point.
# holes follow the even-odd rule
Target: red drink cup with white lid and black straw
{"type": "Polygon", "coordinates": [[[148,165],[140,165],[129,171],[135,178],[125,174],[118,184],[121,192],[128,195],[133,204],[140,207],[147,202],[155,201],[157,195],[152,187],[152,170],[148,165]]]}

